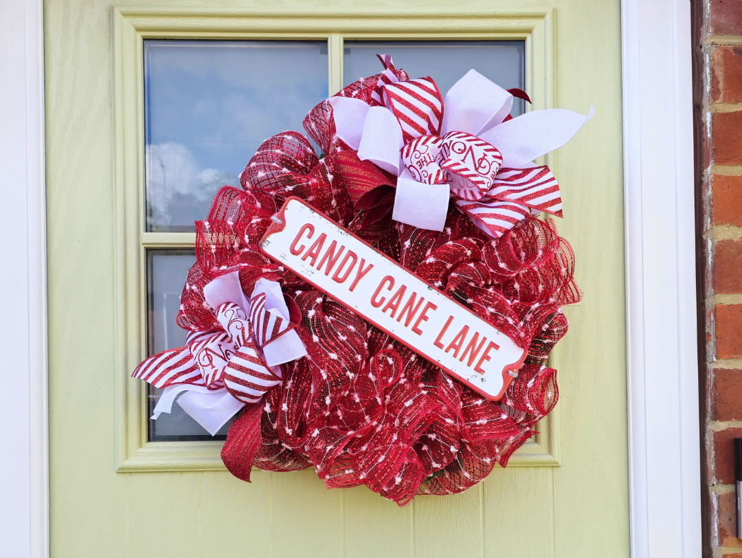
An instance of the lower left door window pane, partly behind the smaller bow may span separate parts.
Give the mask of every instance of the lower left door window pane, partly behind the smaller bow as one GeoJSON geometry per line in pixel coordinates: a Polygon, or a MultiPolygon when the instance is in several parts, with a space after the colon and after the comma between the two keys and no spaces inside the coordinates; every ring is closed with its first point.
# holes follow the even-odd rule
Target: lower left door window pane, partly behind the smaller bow
{"type": "MultiPolygon", "coordinates": [[[[175,323],[180,308],[188,269],[196,262],[193,250],[150,250],[147,253],[148,277],[148,348],[149,354],[185,345],[185,329],[175,323]]],[[[148,385],[148,417],[160,400],[162,390],[148,385]]],[[[230,421],[231,422],[231,421],[230,421]]],[[[156,421],[149,421],[150,442],[193,440],[223,440],[229,424],[213,438],[200,424],[191,419],[177,402],[172,413],[162,413],[156,421]]]]}

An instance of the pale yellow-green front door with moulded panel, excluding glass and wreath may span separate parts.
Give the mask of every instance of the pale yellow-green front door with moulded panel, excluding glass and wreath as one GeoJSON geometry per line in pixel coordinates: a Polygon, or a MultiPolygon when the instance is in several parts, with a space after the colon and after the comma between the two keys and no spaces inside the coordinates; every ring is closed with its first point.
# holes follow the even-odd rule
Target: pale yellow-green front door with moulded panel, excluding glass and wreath
{"type": "Polygon", "coordinates": [[[620,2],[127,4],[45,3],[52,556],[627,557],[620,2]],[[128,374],[160,327],[151,274],[193,243],[187,227],[151,226],[143,58],[162,39],[323,42],[328,93],[358,77],[343,75],[357,41],[425,52],[508,41],[535,108],[594,103],[546,161],[584,299],[565,308],[570,330],[551,358],[557,409],[507,469],[398,508],[364,487],[326,490],[312,469],[240,482],[220,467],[220,442],[148,430],[148,394],[128,374]]]}

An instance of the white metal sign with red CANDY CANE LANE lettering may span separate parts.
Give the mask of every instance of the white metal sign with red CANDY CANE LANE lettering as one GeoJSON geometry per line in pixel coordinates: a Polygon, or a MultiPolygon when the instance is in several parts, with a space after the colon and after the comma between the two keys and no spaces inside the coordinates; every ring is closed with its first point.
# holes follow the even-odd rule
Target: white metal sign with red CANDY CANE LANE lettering
{"type": "Polygon", "coordinates": [[[283,204],[261,248],[492,401],[525,359],[507,335],[298,197],[283,204]]]}

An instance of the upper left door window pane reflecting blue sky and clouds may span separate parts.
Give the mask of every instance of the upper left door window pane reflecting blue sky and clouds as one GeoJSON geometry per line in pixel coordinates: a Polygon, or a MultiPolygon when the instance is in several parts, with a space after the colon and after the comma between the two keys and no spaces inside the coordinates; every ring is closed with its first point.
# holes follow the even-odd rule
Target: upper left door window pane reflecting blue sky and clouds
{"type": "Polygon", "coordinates": [[[326,42],[144,43],[147,230],[192,232],[260,143],[328,96],[326,42]]]}

